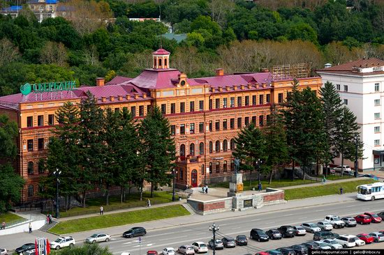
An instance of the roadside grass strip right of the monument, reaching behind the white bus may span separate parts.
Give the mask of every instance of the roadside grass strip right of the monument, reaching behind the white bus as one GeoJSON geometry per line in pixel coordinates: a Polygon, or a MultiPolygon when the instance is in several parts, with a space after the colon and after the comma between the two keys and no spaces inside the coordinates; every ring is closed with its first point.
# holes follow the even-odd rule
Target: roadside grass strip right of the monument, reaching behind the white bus
{"type": "Polygon", "coordinates": [[[326,196],[339,194],[340,187],[343,187],[344,193],[357,192],[356,187],[362,184],[376,183],[377,180],[351,180],[345,183],[332,183],[316,187],[300,187],[292,190],[285,190],[286,200],[306,199],[313,196],[326,196]]]}

